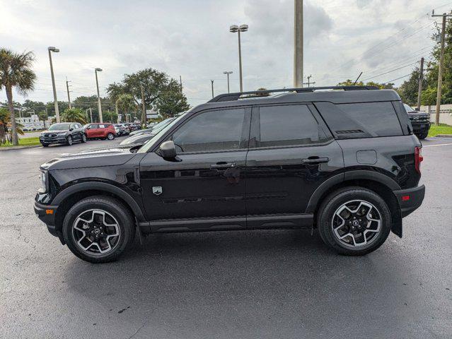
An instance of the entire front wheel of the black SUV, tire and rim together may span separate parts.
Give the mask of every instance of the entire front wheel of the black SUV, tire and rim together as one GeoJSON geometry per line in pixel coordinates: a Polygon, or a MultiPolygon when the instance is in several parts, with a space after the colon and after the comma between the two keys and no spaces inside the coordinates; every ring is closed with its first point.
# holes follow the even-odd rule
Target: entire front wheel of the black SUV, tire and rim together
{"type": "Polygon", "coordinates": [[[129,210],[107,196],[92,196],[76,203],[66,213],[62,231],[71,252],[90,263],[117,260],[135,237],[129,210]]]}

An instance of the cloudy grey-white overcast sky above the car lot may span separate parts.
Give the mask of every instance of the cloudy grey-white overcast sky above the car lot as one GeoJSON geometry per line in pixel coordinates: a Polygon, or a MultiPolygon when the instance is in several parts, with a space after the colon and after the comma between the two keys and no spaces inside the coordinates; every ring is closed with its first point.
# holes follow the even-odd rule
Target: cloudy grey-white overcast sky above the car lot
{"type": "MultiPolygon", "coordinates": [[[[191,105],[209,100],[210,79],[216,94],[226,92],[226,70],[233,71],[231,91],[238,91],[237,34],[229,25],[241,23],[249,25],[242,35],[244,90],[293,83],[293,0],[0,0],[0,8],[0,47],[35,52],[30,100],[53,100],[48,46],[61,50],[52,55],[59,100],[67,100],[66,76],[71,97],[95,94],[95,67],[104,70],[101,95],[124,73],[147,67],[182,76],[191,105]]],[[[433,47],[432,8],[450,11],[452,1],[305,0],[305,76],[315,85],[360,71],[361,79],[378,82],[406,76],[433,47]]]]}

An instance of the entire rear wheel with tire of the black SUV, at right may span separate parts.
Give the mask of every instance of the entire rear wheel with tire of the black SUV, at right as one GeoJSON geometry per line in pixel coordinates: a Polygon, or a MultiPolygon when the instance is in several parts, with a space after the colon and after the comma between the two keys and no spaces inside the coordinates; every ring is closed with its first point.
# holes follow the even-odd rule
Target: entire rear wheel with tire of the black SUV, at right
{"type": "Polygon", "coordinates": [[[361,187],[332,192],[318,210],[323,242],[340,254],[362,256],[375,251],[388,238],[390,210],[381,196],[361,187]]]}

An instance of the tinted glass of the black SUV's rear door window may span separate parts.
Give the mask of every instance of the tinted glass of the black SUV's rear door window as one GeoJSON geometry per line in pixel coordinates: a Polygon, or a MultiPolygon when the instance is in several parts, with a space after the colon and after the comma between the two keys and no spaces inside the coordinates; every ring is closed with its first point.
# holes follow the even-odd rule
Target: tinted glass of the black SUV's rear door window
{"type": "Polygon", "coordinates": [[[306,105],[260,107],[260,147],[306,145],[326,141],[306,105]]]}

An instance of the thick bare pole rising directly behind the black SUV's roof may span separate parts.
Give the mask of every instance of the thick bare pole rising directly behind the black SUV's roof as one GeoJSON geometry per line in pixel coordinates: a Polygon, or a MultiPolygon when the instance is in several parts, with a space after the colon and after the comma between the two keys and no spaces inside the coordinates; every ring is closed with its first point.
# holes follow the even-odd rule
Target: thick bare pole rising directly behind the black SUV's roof
{"type": "Polygon", "coordinates": [[[294,0],[294,88],[303,87],[303,0],[294,0]]]}

